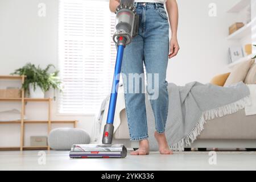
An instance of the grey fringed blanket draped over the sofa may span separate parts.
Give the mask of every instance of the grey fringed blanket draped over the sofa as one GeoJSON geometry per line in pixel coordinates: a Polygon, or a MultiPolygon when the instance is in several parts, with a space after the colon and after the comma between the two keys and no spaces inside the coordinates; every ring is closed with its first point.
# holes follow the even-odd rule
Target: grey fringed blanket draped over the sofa
{"type": "MultiPolygon", "coordinates": [[[[199,82],[185,86],[169,83],[168,93],[166,137],[172,150],[179,151],[196,139],[207,120],[235,113],[250,101],[250,91],[242,82],[229,87],[199,82]]],[[[155,118],[149,100],[146,100],[146,110],[150,150],[156,151],[155,118]]]]}

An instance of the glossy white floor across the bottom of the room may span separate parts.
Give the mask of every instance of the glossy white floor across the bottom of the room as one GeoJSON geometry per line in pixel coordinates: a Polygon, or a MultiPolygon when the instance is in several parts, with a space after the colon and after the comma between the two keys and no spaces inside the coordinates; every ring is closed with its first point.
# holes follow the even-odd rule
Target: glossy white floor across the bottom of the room
{"type": "Polygon", "coordinates": [[[70,159],[68,154],[68,151],[1,151],[0,170],[256,170],[256,152],[246,151],[216,152],[216,165],[209,164],[209,151],[174,155],[151,152],[147,156],[127,155],[125,159],[70,159]]]}

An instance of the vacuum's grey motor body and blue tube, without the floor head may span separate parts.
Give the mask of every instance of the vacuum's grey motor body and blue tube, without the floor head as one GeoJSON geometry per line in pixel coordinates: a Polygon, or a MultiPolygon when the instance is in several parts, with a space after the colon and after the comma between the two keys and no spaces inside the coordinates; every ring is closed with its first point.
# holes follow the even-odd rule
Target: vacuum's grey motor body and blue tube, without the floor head
{"type": "Polygon", "coordinates": [[[102,137],[103,144],[111,144],[113,139],[115,105],[117,104],[117,93],[122,67],[123,51],[125,46],[131,43],[133,36],[138,34],[139,18],[136,16],[134,0],[121,0],[120,5],[117,7],[116,14],[116,32],[113,35],[113,40],[117,44],[117,59],[115,60],[115,71],[112,83],[112,92],[110,94],[108,118],[102,137]]]}

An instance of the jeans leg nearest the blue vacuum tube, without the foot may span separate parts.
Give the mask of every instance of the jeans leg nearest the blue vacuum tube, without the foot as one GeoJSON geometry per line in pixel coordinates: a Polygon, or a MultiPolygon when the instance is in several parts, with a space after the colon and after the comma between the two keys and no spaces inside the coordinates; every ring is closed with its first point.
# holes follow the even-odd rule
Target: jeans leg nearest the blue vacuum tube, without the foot
{"type": "MultiPolygon", "coordinates": [[[[143,75],[143,73],[143,38],[138,35],[132,40],[131,44],[126,46],[122,63],[122,79],[130,140],[148,138],[145,94],[142,92],[143,90],[139,93],[135,92],[138,88],[135,88],[134,80],[129,78],[129,75],[143,75]]],[[[144,78],[140,80],[141,87],[144,85],[144,78]]]]}

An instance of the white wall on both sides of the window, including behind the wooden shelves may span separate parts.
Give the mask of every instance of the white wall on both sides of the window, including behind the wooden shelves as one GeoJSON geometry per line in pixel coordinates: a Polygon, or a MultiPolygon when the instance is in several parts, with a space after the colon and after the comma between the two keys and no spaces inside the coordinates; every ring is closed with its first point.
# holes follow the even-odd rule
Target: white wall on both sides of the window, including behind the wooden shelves
{"type": "MultiPolygon", "coordinates": [[[[57,65],[57,0],[0,0],[0,75],[8,75],[27,62],[57,65]],[[46,17],[38,16],[38,4],[46,3],[46,17]]],[[[217,17],[208,16],[210,0],[180,0],[179,55],[170,60],[167,80],[183,85],[190,81],[208,82],[226,72],[228,26],[233,15],[226,10],[233,0],[215,0],[217,17]]],[[[97,10],[97,9],[96,9],[97,10]]],[[[0,81],[0,88],[6,82],[0,81]]],[[[17,82],[14,82],[14,85],[17,82]]],[[[0,103],[0,110],[19,108],[19,104],[0,103]]],[[[30,119],[46,119],[46,105],[27,105],[30,119]]],[[[60,116],[53,103],[53,119],[79,119],[78,126],[90,133],[93,116],[60,116]]],[[[58,125],[68,126],[68,125],[58,125]]],[[[46,125],[26,125],[25,144],[30,135],[46,135],[46,125]]],[[[0,146],[19,145],[19,127],[0,125],[0,146]]]]}

